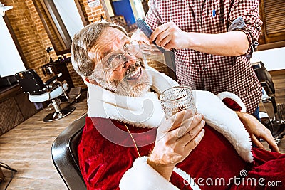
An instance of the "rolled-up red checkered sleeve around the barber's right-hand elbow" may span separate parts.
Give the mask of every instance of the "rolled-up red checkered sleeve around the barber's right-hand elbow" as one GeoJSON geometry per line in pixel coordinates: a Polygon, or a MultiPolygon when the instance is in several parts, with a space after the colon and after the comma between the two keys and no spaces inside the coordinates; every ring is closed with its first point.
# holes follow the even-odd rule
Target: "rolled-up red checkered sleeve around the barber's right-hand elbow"
{"type": "Polygon", "coordinates": [[[250,44],[245,55],[250,55],[258,45],[257,41],[261,33],[262,21],[259,19],[259,0],[233,1],[229,23],[232,23],[239,16],[242,17],[245,23],[245,27],[241,31],[247,35],[250,44]]]}

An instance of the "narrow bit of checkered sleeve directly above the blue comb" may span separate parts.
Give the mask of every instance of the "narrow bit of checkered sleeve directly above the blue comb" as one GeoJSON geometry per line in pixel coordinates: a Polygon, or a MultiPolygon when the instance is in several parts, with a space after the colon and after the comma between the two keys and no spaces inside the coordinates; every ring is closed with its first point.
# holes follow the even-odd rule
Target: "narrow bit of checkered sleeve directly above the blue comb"
{"type": "Polygon", "coordinates": [[[145,22],[152,28],[152,30],[155,30],[157,26],[161,25],[161,17],[157,12],[155,1],[150,0],[148,1],[149,9],[147,11],[147,15],[145,16],[145,22]]]}

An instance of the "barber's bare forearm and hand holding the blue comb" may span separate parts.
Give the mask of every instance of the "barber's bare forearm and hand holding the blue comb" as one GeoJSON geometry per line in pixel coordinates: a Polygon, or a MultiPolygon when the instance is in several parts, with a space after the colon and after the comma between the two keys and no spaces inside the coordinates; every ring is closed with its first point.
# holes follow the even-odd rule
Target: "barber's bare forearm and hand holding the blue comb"
{"type": "Polygon", "coordinates": [[[150,36],[157,46],[167,50],[189,48],[217,56],[240,56],[247,53],[249,41],[242,31],[197,33],[182,31],[174,22],[158,26],[150,36]]]}

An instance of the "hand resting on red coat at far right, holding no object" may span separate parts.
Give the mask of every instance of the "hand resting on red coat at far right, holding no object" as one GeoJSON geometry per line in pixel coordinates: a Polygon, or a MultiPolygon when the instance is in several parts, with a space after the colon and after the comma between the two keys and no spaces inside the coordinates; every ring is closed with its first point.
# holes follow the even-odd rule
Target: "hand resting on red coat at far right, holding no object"
{"type": "Polygon", "coordinates": [[[272,137],[269,129],[267,129],[256,117],[253,115],[237,112],[239,118],[241,119],[247,132],[249,132],[252,142],[257,145],[257,147],[264,149],[264,145],[258,139],[264,139],[268,144],[269,148],[273,152],[280,152],[279,148],[272,137]]]}

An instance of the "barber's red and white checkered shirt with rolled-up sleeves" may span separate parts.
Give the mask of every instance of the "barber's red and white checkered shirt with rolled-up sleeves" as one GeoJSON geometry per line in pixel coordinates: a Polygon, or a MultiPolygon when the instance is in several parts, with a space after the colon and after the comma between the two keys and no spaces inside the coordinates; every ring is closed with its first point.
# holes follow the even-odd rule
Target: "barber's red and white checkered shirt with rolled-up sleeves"
{"type": "MultiPolygon", "coordinates": [[[[182,31],[224,33],[232,21],[242,16],[250,44],[261,31],[258,0],[150,0],[145,21],[152,29],[173,21],[182,31]]],[[[246,55],[252,53],[249,48],[246,55]]],[[[214,56],[192,49],[175,50],[177,82],[214,94],[232,92],[253,113],[261,100],[261,86],[246,56],[214,56]]]]}

